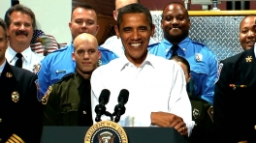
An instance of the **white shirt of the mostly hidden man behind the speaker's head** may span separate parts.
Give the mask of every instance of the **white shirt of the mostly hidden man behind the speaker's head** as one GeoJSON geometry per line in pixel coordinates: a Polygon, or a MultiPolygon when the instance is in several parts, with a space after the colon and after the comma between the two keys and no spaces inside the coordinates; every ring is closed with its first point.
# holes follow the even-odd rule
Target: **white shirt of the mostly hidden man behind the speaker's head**
{"type": "MultiPolygon", "coordinates": [[[[154,41],[154,39],[150,38],[148,45],[153,43],[156,42],[154,41]]],[[[118,39],[117,36],[112,36],[109,39],[107,39],[106,42],[101,45],[101,47],[109,49],[118,57],[125,57],[122,41],[121,39],[118,39]]]]}

